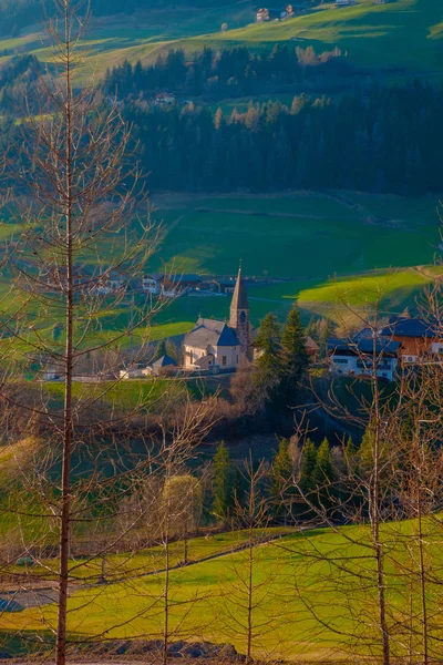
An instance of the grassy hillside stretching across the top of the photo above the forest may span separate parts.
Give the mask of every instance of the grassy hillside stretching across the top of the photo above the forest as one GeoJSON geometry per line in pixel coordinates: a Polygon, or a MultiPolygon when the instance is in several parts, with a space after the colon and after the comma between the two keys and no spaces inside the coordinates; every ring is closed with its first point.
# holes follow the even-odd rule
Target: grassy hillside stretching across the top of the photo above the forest
{"type": "MultiPolygon", "coordinates": [[[[396,68],[390,76],[420,74],[441,79],[443,71],[443,23],[436,0],[392,0],[336,9],[326,2],[308,14],[286,22],[254,23],[254,12],[245,3],[217,8],[152,10],[132,17],[94,19],[84,42],[85,65],[81,82],[93,72],[102,76],[106,68],[128,60],[152,61],[162,50],[183,47],[187,52],[246,44],[271,48],[291,40],[300,47],[347,51],[352,62],[370,68],[396,68]],[[222,23],[229,29],[222,33],[222,23]],[[412,47],[413,44],[413,47],[412,47]],[[403,71],[404,70],[404,71],[403,71]]],[[[0,40],[2,59],[32,52],[47,59],[41,27],[14,39],[0,40]]]]}

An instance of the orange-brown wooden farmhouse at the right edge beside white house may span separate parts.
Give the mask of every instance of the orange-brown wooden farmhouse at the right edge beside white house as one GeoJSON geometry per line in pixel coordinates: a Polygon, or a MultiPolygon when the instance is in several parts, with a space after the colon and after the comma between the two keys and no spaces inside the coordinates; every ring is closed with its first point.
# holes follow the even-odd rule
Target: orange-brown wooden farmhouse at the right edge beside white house
{"type": "Polygon", "coordinates": [[[405,364],[443,361],[442,331],[420,317],[392,318],[380,334],[400,342],[399,352],[405,364]]]}

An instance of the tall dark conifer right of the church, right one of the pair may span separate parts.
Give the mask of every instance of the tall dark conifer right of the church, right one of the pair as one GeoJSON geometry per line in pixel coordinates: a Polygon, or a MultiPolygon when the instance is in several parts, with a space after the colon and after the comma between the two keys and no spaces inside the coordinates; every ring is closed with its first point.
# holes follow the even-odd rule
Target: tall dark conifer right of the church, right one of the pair
{"type": "Polygon", "coordinates": [[[309,366],[306,335],[297,303],[288,315],[281,335],[281,365],[284,397],[291,402],[309,366]]]}

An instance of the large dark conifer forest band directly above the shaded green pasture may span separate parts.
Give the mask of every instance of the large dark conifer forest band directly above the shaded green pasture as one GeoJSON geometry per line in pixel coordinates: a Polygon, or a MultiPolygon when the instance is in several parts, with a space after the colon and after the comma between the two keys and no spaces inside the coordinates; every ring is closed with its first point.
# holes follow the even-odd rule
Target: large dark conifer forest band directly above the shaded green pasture
{"type": "Polygon", "coordinates": [[[423,194],[441,186],[442,103],[442,89],[413,82],[336,100],[300,94],[290,108],[269,101],[228,114],[133,101],[124,115],[145,168],[156,165],[151,187],[423,194]]]}

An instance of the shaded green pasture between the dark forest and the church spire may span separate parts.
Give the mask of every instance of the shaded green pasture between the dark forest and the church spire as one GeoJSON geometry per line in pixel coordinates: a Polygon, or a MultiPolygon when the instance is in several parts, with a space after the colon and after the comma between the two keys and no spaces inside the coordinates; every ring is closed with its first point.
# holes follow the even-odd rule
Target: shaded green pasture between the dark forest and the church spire
{"type": "Polygon", "coordinates": [[[323,282],[433,262],[437,197],[309,193],[154,197],[165,234],[153,260],[177,272],[323,282]],[[235,239],[234,239],[235,238],[235,239]]]}

